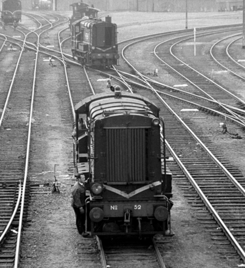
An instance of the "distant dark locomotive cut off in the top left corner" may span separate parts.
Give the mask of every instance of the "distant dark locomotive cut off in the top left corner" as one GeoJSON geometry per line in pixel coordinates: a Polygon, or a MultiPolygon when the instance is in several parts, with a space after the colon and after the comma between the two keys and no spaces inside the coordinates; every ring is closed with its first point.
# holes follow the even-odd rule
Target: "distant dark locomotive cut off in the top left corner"
{"type": "Polygon", "coordinates": [[[4,23],[20,22],[22,7],[20,0],[5,0],[1,4],[1,21],[4,23]]]}

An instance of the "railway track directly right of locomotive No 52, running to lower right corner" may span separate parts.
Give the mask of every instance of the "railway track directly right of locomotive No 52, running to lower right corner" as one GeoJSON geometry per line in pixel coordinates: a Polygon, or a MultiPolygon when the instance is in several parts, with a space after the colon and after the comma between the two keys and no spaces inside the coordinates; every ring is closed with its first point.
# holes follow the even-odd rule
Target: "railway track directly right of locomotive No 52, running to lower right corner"
{"type": "MultiPolygon", "coordinates": [[[[225,235],[229,237],[231,244],[236,247],[240,257],[243,259],[243,245],[237,244],[237,240],[234,239],[234,237],[239,235],[238,240],[244,239],[244,234],[241,232],[242,229],[238,227],[241,225],[239,223],[240,217],[243,218],[245,216],[243,209],[240,210],[239,205],[242,202],[243,207],[245,201],[243,189],[244,177],[240,171],[233,168],[223,156],[215,153],[217,148],[212,146],[212,143],[206,136],[202,136],[201,133],[198,133],[200,138],[193,137],[193,134],[189,133],[190,130],[188,127],[186,125],[184,126],[184,122],[181,122],[180,118],[176,119],[177,114],[173,115],[173,111],[169,110],[168,105],[163,106],[163,101],[160,102],[156,97],[156,95],[158,95],[156,91],[152,94],[151,90],[149,90],[150,86],[147,84],[145,87],[148,89],[142,89],[142,87],[137,87],[134,84],[133,89],[137,91],[138,94],[146,96],[154,103],[157,103],[160,107],[166,122],[167,141],[170,148],[173,148],[171,153],[174,155],[175,159],[177,159],[176,161],[179,161],[180,167],[186,172],[185,175],[192,178],[190,179],[191,182],[185,181],[184,184],[186,187],[190,187],[192,184],[195,191],[199,194],[197,195],[196,192],[194,193],[194,190],[190,190],[191,200],[193,201],[195,199],[196,203],[200,204],[200,202],[204,202],[207,205],[208,210],[213,213],[211,217],[212,220],[215,219],[221,224],[221,228],[218,229],[217,232],[217,225],[213,222],[214,225],[210,227],[211,234],[215,239],[218,236],[222,236],[222,239],[225,239],[225,235]],[[205,144],[207,146],[205,146],[205,144]],[[228,202],[231,204],[232,209],[224,205],[228,202]],[[236,217],[237,215],[239,215],[239,217],[236,217]],[[237,226],[237,228],[231,228],[231,225],[237,226]]],[[[217,95],[220,96],[219,94],[217,95]]],[[[158,97],[160,98],[160,95],[158,95],[158,97]]],[[[173,103],[172,100],[169,101],[173,103]]],[[[207,102],[209,101],[210,100],[207,99],[207,102]]],[[[233,104],[235,106],[237,102],[235,101],[233,104]]],[[[193,127],[190,120],[186,120],[185,123],[193,127]]],[[[172,166],[172,170],[176,171],[176,163],[170,162],[169,165],[172,166]]],[[[177,174],[176,178],[178,178],[178,176],[183,176],[183,174],[177,174]]],[[[202,203],[200,211],[203,211],[203,205],[202,203]]],[[[205,219],[203,222],[210,223],[210,215],[208,215],[208,213],[203,216],[202,219],[205,219]]],[[[217,244],[221,247],[223,246],[220,243],[217,244]]],[[[224,249],[222,248],[222,250],[224,249]]],[[[236,255],[230,245],[223,251],[223,254],[229,256],[236,255]]]]}

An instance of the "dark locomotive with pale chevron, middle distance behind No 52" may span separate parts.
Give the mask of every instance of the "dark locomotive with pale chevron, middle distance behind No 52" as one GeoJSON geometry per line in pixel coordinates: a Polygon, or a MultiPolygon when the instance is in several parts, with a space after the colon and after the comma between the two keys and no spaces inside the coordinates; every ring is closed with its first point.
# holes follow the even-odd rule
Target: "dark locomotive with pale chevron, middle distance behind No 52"
{"type": "Polygon", "coordinates": [[[111,17],[102,20],[77,20],[72,23],[72,54],[82,65],[109,67],[117,65],[117,25],[111,17]]]}

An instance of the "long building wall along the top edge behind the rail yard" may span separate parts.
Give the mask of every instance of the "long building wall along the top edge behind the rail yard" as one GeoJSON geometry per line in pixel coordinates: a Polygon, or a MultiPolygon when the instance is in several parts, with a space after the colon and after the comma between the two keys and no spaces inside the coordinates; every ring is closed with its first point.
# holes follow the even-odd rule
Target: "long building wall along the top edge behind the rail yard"
{"type": "MultiPolygon", "coordinates": [[[[52,0],[57,10],[72,10],[80,0],[52,0]]],[[[32,0],[22,0],[23,9],[31,9],[32,0]]],[[[141,12],[217,12],[242,10],[243,0],[83,0],[100,10],[141,12]]]]}

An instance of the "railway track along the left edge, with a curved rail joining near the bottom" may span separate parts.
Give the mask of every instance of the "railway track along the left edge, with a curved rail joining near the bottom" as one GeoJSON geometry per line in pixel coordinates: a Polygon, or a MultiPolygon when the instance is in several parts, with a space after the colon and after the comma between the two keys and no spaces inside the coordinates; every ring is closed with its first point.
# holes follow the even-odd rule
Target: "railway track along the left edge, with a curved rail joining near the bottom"
{"type": "MultiPolygon", "coordinates": [[[[50,27],[47,20],[43,22],[46,22],[44,27],[48,24],[50,27]]],[[[39,51],[35,45],[39,42],[39,34],[28,28],[18,30],[20,36],[16,34],[17,31],[14,36],[6,35],[5,39],[5,44],[16,42],[13,48],[19,47],[11,52],[15,64],[9,66],[6,63],[6,46],[3,45],[0,54],[4,63],[1,76],[5,83],[0,99],[0,266],[11,268],[19,263],[22,225],[28,207],[30,187],[27,176],[33,103],[39,84],[36,80],[39,51]],[[36,49],[28,49],[29,46],[36,49]],[[8,80],[3,79],[6,73],[8,80]]]]}

